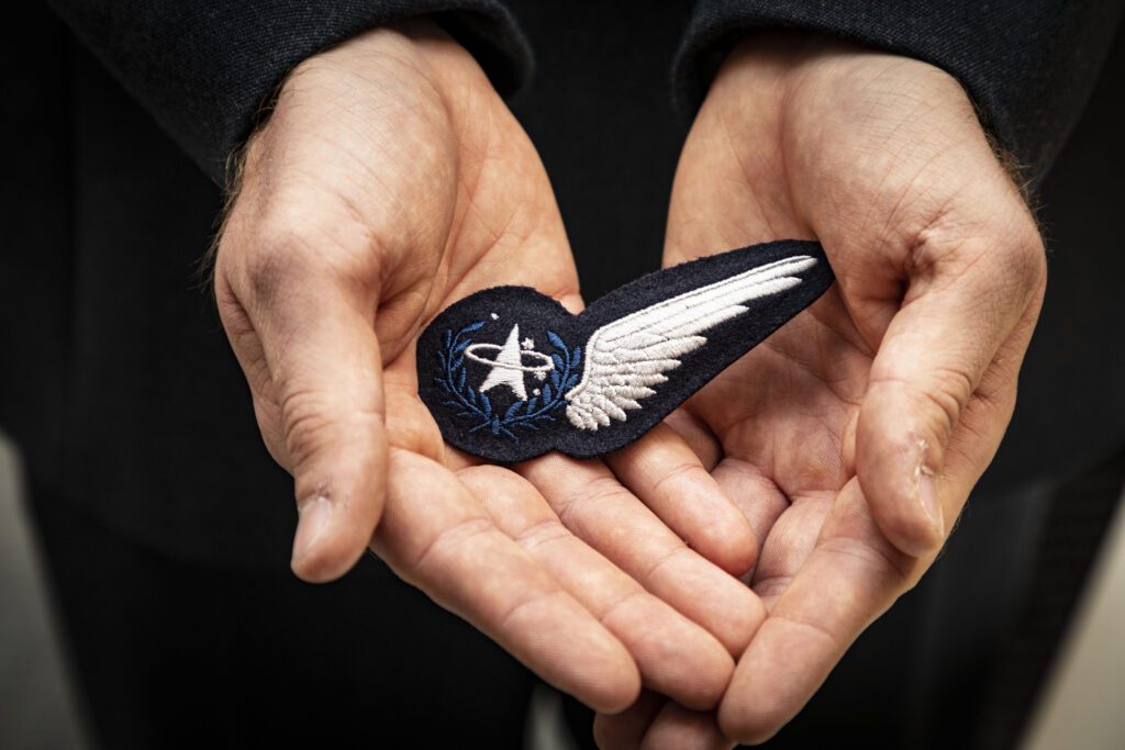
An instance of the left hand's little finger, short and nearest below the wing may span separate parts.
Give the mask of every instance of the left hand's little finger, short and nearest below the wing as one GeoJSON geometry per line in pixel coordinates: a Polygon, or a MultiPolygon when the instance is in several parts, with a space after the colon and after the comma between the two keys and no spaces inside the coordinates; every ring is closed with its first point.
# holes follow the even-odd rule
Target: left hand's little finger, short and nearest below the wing
{"type": "Polygon", "coordinates": [[[605,463],[704,558],[732,576],[754,564],[757,550],[746,516],[670,427],[656,425],[637,442],[606,455],[605,463]]]}

